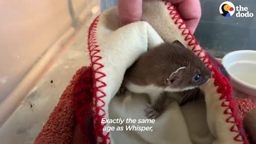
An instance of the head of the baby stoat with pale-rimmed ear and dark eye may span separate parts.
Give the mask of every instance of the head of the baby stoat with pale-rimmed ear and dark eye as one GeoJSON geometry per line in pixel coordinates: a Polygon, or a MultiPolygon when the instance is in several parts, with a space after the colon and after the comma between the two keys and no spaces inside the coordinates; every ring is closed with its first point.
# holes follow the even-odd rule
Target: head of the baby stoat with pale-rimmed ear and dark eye
{"type": "MultiPolygon", "coordinates": [[[[191,50],[180,46],[179,50],[181,49],[180,53],[178,53],[178,50],[174,51],[174,53],[179,54],[179,57],[172,64],[172,70],[168,72],[169,75],[165,76],[165,86],[175,91],[184,91],[194,89],[208,82],[212,73],[203,61],[191,50]]],[[[174,56],[172,55],[172,57],[174,56]]]]}

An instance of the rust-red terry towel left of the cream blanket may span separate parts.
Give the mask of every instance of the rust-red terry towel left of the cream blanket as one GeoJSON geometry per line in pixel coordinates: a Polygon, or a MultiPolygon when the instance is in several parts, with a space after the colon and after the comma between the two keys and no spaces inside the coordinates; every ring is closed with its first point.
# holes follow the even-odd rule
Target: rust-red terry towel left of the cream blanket
{"type": "MultiPolygon", "coordinates": [[[[77,70],[70,84],[62,93],[60,100],[49,116],[48,121],[36,137],[35,144],[52,143],[85,143],[85,133],[81,131],[81,126],[76,123],[74,107],[74,89],[79,85],[77,82],[82,75],[90,74],[91,69],[82,67],[77,70]]],[[[88,142],[86,142],[88,143],[88,142]]]]}

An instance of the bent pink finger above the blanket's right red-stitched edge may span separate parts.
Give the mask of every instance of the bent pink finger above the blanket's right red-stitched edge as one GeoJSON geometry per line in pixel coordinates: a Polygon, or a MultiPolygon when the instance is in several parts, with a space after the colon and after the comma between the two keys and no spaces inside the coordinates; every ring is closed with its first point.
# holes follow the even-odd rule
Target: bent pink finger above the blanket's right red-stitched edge
{"type": "Polygon", "coordinates": [[[199,0],[170,0],[177,6],[180,17],[185,20],[186,26],[192,34],[201,18],[201,5],[199,0]]]}

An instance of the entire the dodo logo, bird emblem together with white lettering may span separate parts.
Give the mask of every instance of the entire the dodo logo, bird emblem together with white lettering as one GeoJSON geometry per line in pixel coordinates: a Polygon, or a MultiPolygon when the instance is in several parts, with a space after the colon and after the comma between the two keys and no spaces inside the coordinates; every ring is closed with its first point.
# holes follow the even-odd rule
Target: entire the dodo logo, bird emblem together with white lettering
{"type": "Polygon", "coordinates": [[[235,6],[231,2],[223,2],[220,5],[220,14],[223,15],[223,17],[231,17],[233,14],[235,14],[236,11],[236,17],[253,17],[253,13],[249,12],[248,7],[237,5],[235,6]]]}

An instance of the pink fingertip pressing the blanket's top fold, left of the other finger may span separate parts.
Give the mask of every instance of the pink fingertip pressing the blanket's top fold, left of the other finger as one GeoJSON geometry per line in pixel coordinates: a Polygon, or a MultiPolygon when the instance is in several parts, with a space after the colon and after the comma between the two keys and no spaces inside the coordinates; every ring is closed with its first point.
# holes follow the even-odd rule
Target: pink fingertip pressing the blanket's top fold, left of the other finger
{"type": "Polygon", "coordinates": [[[118,0],[117,7],[122,26],[141,20],[142,0],[118,0]]]}

